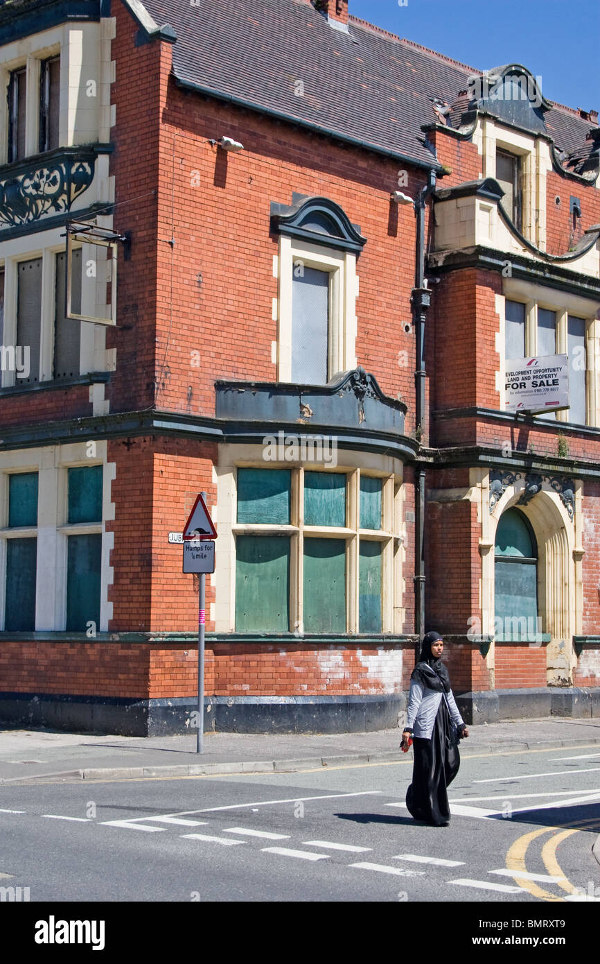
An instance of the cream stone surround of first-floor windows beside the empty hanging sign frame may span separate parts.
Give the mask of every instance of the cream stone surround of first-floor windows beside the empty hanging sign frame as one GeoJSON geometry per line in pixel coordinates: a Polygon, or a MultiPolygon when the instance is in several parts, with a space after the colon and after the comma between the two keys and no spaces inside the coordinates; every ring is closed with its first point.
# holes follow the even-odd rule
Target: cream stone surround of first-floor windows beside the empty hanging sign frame
{"type": "MultiPolygon", "coordinates": [[[[41,317],[40,317],[40,363],[39,383],[52,381],[54,362],[54,327],[55,327],[55,283],[56,283],[56,254],[65,251],[64,228],[54,228],[35,235],[23,235],[13,238],[10,244],[2,246],[2,253],[10,250],[4,257],[0,257],[0,268],[4,268],[4,332],[5,346],[14,345],[16,338],[17,312],[17,265],[21,261],[42,258],[41,275],[41,317]],[[35,248],[31,248],[36,244],[35,248]]],[[[98,279],[99,281],[99,279],[98,279]]],[[[103,287],[101,284],[97,288],[103,287]]],[[[105,350],[106,335],[104,325],[94,325],[92,322],[81,322],[81,349],[79,357],[80,374],[91,371],[106,371],[113,367],[115,352],[105,350]]],[[[2,388],[11,388],[26,383],[16,378],[16,372],[3,371],[0,373],[2,388]]]]}

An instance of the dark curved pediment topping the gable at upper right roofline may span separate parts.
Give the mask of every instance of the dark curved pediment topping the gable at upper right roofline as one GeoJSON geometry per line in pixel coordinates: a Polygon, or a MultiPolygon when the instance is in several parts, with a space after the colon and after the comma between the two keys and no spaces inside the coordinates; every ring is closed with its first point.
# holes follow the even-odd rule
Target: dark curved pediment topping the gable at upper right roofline
{"type": "Polygon", "coordinates": [[[552,107],[539,78],[521,64],[507,64],[469,78],[472,107],[535,134],[548,134],[544,114],[552,107]]]}

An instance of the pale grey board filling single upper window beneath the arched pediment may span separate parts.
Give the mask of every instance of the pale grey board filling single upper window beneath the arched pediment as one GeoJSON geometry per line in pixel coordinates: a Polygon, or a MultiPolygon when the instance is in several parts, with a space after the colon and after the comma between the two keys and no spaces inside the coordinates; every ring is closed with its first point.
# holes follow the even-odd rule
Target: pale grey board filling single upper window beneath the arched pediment
{"type": "Polygon", "coordinates": [[[292,284],[292,381],[326,385],[329,275],[301,266],[292,284]],[[299,277],[296,277],[298,273],[299,277]]]}

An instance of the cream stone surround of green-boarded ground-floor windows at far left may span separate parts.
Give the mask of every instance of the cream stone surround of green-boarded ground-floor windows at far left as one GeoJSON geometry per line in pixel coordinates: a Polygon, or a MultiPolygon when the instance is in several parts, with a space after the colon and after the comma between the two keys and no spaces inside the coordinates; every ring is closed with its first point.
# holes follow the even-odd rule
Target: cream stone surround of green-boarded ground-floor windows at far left
{"type": "Polygon", "coordinates": [[[108,587],[113,582],[109,565],[114,533],[106,522],[115,518],[111,502],[111,482],[115,465],[107,464],[107,443],[94,442],[95,455],[87,457],[89,442],[21,449],[0,453],[0,629],[4,629],[7,539],[37,537],[38,565],[36,583],[36,631],[65,631],[66,626],[66,552],[70,535],[102,535],[100,576],[100,625],[97,632],[108,631],[113,618],[113,603],[108,602],[108,587]],[[102,465],[102,520],[68,524],[67,469],[102,465]],[[9,474],[38,472],[38,525],[8,528],[9,474]]]}

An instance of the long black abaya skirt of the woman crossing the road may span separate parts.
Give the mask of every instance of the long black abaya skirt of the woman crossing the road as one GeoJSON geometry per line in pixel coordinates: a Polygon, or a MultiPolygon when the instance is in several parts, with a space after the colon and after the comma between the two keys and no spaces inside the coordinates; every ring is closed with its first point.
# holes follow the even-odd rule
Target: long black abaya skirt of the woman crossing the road
{"type": "Polygon", "coordinates": [[[441,827],[450,822],[447,788],[455,779],[460,756],[455,729],[446,701],[442,699],[430,739],[413,739],[412,783],[406,792],[406,807],[415,820],[441,827]]]}

